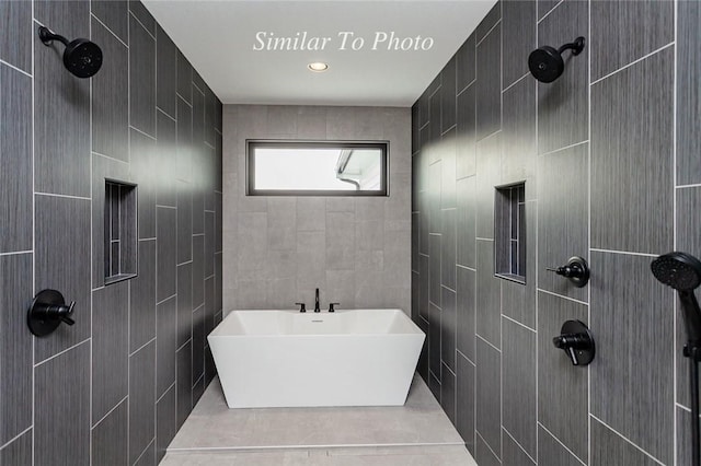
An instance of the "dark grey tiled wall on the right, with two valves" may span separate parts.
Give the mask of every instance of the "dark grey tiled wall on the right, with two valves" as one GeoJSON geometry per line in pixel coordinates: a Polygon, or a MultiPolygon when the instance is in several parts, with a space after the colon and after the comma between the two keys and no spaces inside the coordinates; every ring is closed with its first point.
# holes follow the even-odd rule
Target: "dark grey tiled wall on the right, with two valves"
{"type": "Polygon", "coordinates": [[[650,263],[701,256],[701,3],[502,0],[412,108],[420,372],[480,465],[688,465],[685,333],[650,263]],[[538,83],[538,46],[586,37],[538,83]],[[526,183],[526,284],[494,276],[495,187],[526,183]],[[587,288],[545,270],[573,255],[587,288]],[[597,357],[552,345],[588,323],[597,357]],[[676,363],[676,368],[675,368],[676,363]]]}

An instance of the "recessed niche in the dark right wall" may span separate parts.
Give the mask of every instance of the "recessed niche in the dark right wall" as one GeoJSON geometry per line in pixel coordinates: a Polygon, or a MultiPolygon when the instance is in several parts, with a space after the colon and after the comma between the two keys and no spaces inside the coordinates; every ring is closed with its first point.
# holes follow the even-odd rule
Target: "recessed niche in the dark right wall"
{"type": "Polygon", "coordinates": [[[526,184],[496,188],[494,199],[495,273],[526,282],[526,184]]]}

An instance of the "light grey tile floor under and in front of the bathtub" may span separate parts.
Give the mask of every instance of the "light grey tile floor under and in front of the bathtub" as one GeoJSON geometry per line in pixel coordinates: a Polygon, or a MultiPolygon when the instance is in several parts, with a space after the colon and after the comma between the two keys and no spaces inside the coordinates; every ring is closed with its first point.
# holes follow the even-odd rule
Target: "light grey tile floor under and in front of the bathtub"
{"type": "Polygon", "coordinates": [[[215,380],[161,466],[476,466],[416,376],[402,407],[229,409],[215,380]]]}

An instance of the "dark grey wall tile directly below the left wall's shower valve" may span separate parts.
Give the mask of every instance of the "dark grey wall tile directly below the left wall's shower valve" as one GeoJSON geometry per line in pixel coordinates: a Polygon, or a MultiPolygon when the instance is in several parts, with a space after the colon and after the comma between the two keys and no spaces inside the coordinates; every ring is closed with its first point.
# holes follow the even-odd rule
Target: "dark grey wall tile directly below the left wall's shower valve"
{"type": "Polygon", "coordinates": [[[34,464],[89,464],[90,342],[35,369],[34,399],[34,464]]]}

